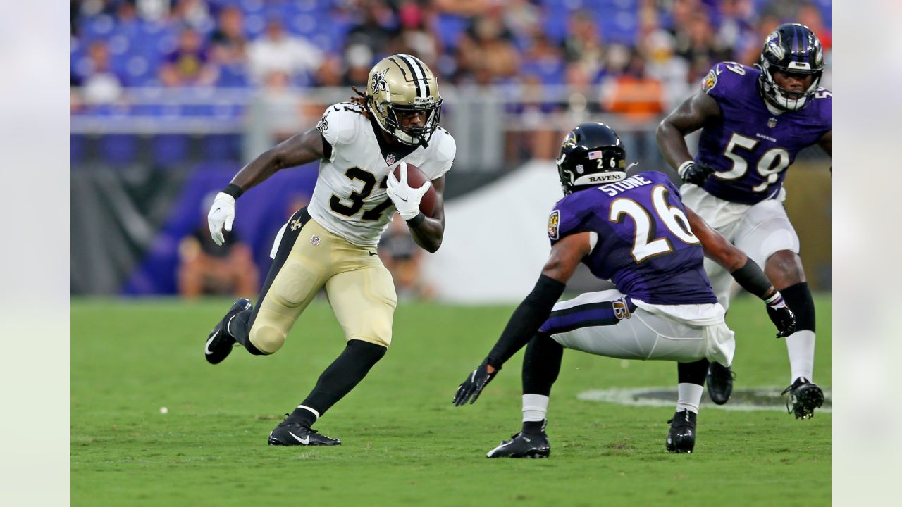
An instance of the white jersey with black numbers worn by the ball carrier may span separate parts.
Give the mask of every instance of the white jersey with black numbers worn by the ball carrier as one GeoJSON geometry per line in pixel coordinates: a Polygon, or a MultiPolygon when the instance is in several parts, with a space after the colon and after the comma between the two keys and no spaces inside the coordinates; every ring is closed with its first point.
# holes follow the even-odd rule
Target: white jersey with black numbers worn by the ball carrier
{"type": "Polygon", "coordinates": [[[419,168],[429,180],[437,180],[451,169],[456,143],[439,127],[428,147],[417,147],[391,165],[373,131],[373,124],[360,114],[360,106],[342,102],[329,106],[317,124],[332,145],[331,157],[319,163],[319,176],[308,211],[329,232],[352,244],[375,247],[391,222],[395,207],[385,192],[386,178],[399,161],[419,168]]]}

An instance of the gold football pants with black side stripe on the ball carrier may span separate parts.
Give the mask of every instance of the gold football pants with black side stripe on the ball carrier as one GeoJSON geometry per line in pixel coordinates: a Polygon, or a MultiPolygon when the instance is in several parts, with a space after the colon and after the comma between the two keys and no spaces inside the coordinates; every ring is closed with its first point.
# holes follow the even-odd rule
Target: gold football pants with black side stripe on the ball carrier
{"type": "Polygon", "coordinates": [[[295,320],[323,288],[345,339],[391,344],[391,319],[398,304],[391,273],[375,248],[328,232],[304,207],[285,228],[254,309],[253,346],[265,354],[279,350],[295,320]]]}

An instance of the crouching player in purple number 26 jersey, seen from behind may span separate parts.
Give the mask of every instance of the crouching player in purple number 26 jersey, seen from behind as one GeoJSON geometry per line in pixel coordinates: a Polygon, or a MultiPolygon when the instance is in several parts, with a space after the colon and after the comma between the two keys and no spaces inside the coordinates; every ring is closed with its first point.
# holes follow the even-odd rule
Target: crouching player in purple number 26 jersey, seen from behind
{"type": "Polygon", "coordinates": [[[792,311],[759,266],[683,206],[657,171],[626,177],[626,152],[605,124],[580,124],[557,159],[565,197],[548,218],[551,255],[492,351],[457,389],[473,403],[502,364],[523,358],[523,427],[489,457],[545,457],[548,395],[564,348],[624,359],[678,362],[678,401],[667,450],[692,452],[709,361],[729,365],[735,342],[702,266],[707,255],[767,303],[778,336],[795,329],[792,311]],[[557,302],[579,263],[616,290],[557,302]],[[556,304],[557,302],[557,304],[556,304]]]}

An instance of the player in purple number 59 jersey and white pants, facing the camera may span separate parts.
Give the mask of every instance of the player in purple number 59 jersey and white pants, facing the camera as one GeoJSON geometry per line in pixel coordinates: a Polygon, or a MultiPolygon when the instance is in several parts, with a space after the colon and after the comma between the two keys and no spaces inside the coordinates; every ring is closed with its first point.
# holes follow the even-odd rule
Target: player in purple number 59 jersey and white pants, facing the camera
{"type": "MultiPolygon", "coordinates": [[[[805,25],[787,23],[771,32],[755,68],[722,62],[658,125],[658,146],[686,182],[683,202],[751,259],[764,266],[798,318],[787,336],[792,368],[787,409],[810,418],[824,403],[812,382],[815,303],[805,282],[799,241],[783,201],[783,180],[796,154],[812,144],[831,150],[830,92],[820,88],[824,51],[805,25]],[[695,159],[686,134],[702,130],[695,159]]],[[[716,263],[704,271],[724,308],[730,274],[716,263]]],[[[728,365],[712,363],[708,392],[723,404],[732,392],[728,365]]]]}

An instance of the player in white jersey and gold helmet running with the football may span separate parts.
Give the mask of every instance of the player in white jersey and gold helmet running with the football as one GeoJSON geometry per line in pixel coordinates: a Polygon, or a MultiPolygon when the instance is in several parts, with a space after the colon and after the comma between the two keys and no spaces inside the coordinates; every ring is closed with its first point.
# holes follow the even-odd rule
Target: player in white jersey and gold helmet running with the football
{"type": "Polygon", "coordinates": [[[232,230],[235,199],[275,171],[320,161],[308,207],[282,227],[274,262],[257,305],[237,300],[207,338],[207,361],[217,364],[241,344],[253,355],[270,355],[285,343],[300,313],[320,289],[345,331],[347,346],[318,379],[307,398],[272,430],[270,445],[341,443],[311,425],[363,380],[391,344],[397,305],[391,273],[376,254],[379,237],[395,211],[419,246],[437,251],[445,232],[442,192],[454,161],[454,138],[438,126],[442,98],[435,74],[419,59],[396,54],[370,71],[366,93],[329,106],[315,128],[263,152],[244,166],[210,208],[210,234],[223,242],[232,230]],[[419,210],[428,189],[410,188],[406,163],[423,171],[436,189],[430,217],[419,210]]]}

